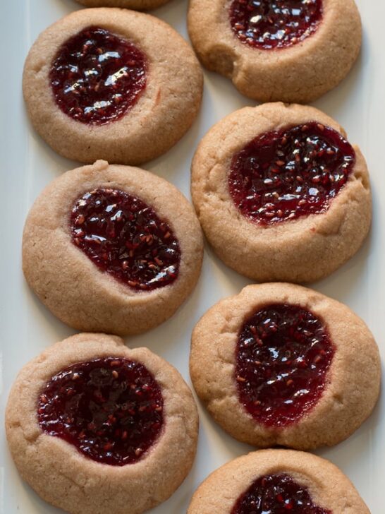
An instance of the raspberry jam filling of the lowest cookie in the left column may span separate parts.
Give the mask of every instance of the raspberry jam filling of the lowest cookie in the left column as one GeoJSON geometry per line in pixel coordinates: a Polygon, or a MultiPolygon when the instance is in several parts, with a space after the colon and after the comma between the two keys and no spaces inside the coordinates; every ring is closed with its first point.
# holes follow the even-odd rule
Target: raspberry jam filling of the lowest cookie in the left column
{"type": "Polygon", "coordinates": [[[42,430],[73,444],[97,462],[123,466],[140,460],[159,438],[163,398],[142,364],[106,357],[63,369],[44,386],[42,430]]]}

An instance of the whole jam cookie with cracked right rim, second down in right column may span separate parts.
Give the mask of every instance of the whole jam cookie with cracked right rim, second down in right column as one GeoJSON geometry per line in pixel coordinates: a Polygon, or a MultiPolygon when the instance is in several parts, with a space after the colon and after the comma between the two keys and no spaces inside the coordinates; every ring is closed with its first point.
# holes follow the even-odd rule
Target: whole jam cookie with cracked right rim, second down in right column
{"type": "Polygon", "coordinates": [[[372,196],[364,157],[313,107],[245,107],[204,136],[193,203],[219,258],[258,282],[312,282],[365,240],[372,196]]]}

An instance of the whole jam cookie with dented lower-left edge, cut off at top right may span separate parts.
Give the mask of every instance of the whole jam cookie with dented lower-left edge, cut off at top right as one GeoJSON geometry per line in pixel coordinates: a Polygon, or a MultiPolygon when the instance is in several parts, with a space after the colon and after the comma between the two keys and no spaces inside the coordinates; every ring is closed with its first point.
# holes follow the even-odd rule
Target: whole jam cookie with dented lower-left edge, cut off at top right
{"type": "Polygon", "coordinates": [[[259,102],[312,102],[345,78],[362,40],[354,0],[257,4],[190,0],[188,30],[204,66],[259,102]]]}

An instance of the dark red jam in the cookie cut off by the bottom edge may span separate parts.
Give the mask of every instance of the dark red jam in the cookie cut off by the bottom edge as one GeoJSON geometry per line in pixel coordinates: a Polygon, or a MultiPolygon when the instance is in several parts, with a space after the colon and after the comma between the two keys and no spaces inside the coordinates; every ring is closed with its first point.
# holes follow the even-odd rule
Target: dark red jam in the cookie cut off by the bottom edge
{"type": "Polygon", "coordinates": [[[314,505],[305,486],[288,474],[267,474],[255,480],[245,491],[231,514],[331,514],[314,505]]]}

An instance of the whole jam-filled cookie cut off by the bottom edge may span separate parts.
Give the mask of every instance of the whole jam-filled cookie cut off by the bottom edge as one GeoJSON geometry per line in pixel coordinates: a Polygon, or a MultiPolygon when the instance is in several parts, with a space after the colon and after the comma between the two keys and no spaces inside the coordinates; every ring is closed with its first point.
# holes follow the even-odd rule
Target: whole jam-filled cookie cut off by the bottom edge
{"type": "Polygon", "coordinates": [[[310,453],[260,450],[214,471],[199,486],[188,514],[369,514],[334,464],[310,453]]]}

